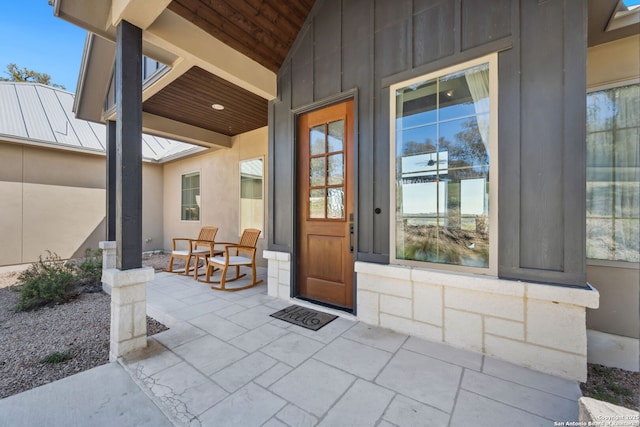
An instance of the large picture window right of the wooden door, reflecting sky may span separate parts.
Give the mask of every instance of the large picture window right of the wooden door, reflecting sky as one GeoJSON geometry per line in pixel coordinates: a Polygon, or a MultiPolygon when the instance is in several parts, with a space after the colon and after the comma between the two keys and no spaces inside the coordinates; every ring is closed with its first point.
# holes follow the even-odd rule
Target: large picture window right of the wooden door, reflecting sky
{"type": "Polygon", "coordinates": [[[494,61],[391,88],[396,262],[494,268],[494,61]]]}

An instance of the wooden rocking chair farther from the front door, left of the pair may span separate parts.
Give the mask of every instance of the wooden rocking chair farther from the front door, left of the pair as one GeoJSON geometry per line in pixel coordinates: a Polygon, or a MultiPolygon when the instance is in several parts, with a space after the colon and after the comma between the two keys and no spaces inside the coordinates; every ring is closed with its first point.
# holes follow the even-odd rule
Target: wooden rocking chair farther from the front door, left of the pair
{"type": "Polygon", "coordinates": [[[215,238],[218,233],[218,227],[202,227],[197,239],[189,239],[187,237],[176,237],[172,240],[171,257],[169,258],[169,268],[165,271],[169,273],[182,274],[182,271],[173,270],[173,261],[175,258],[181,258],[185,260],[184,275],[189,275],[191,267],[191,259],[195,258],[194,263],[194,277],[198,278],[198,261],[200,258],[204,258],[204,265],[207,265],[207,261],[210,257],[216,255],[222,255],[224,252],[221,250],[215,250],[215,238]],[[180,249],[178,242],[188,242],[186,249],[180,249]]]}

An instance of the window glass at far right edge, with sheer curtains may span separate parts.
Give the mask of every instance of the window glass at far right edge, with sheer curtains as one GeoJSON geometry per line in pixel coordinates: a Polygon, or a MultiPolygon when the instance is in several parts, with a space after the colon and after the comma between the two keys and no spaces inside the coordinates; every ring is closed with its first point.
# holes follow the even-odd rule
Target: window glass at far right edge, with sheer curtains
{"type": "Polygon", "coordinates": [[[640,261],[640,84],[587,95],[587,258],[640,261]]]}

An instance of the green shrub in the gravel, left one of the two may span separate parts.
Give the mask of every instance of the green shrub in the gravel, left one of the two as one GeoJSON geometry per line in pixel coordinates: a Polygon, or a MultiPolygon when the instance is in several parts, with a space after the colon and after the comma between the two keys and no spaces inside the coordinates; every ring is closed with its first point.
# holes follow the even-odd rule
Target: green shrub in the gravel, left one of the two
{"type": "Polygon", "coordinates": [[[40,257],[18,280],[20,299],[16,308],[30,310],[49,303],[63,303],[77,295],[75,268],[49,251],[45,259],[40,257]]]}

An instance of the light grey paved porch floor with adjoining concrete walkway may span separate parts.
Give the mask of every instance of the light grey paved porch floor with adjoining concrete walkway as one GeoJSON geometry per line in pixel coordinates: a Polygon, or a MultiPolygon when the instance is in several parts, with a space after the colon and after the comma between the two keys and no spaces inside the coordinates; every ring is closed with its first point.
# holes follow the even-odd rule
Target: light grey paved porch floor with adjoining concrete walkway
{"type": "MultiPolygon", "coordinates": [[[[266,282],[266,270],[260,274],[266,282]]],[[[224,293],[160,273],[147,303],[149,315],[171,329],[123,366],[175,425],[553,426],[578,419],[574,382],[349,318],[310,331],[269,316],[290,303],[267,296],[265,285],[224,293]]],[[[97,370],[121,369],[107,366],[97,370]]],[[[18,413],[14,405],[60,411],[43,407],[41,397],[59,394],[58,383],[94,390],[69,395],[89,400],[113,387],[93,371],[0,400],[0,425],[18,413]]],[[[166,425],[140,389],[126,390],[126,410],[113,406],[109,422],[90,424],[166,425]],[[149,424],[127,423],[138,414],[148,414],[149,424]]],[[[86,415],[75,417],[6,425],[88,425],[75,421],[86,415]]]]}

